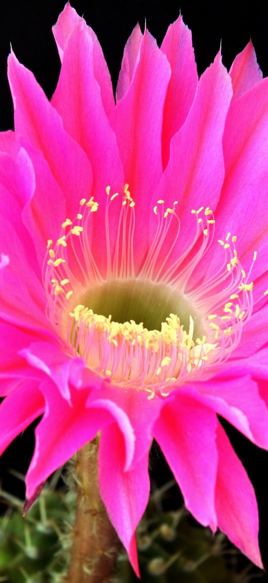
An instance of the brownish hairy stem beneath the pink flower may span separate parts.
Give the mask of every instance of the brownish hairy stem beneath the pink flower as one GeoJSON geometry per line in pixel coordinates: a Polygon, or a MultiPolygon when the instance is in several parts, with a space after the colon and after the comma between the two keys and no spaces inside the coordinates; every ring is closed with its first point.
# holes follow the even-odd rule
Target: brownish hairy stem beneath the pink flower
{"type": "Polygon", "coordinates": [[[78,451],[77,508],[67,583],[108,583],[119,540],[99,495],[98,440],[78,451]]]}

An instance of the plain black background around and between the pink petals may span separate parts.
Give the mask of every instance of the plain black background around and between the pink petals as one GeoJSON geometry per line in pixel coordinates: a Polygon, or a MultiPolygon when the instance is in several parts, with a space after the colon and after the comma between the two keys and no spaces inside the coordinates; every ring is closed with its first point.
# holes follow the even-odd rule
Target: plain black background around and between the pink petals
{"type": "MultiPolygon", "coordinates": [[[[114,86],[120,69],[123,48],[137,21],[141,27],[146,24],[161,43],[167,26],[180,13],[184,22],[192,30],[198,72],[201,74],[213,61],[221,43],[223,62],[230,68],[235,55],[252,38],[260,67],[268,75],[268,3],[261,5],[253,2],[248,5],[242,1],[230,4],[202,2],[195,0],[73,0],[72,5],[95,30],[108,61],[114,86]]],[[[17,58],[30,68],[45,93],[50,98],[55,89],[59,74],[59,58],[51,33],[65,0],[25,1],[15,5],[0,0],[0,129],[13,128],[13,108],[6,78],[6,58],[10,43],[17,58]]],[[[227,424],[224,425],[227,427],[227,424]]],[[[1,430],[1,429],[0,429],[1,430]]],[[[242,459],[259,502],[260,543],[268,568],[268,454],[249,443],[233,428],[228,434],[242,459]]],[[[3,486],[23,496],[23,487],[9,476],[8,468],[26,472],[33,451],[33,430],[27,430],[17,438],[1,460],[0,471],[3,486]]],[[[161,455],[153,454],[153,479],[159,483],[169,477],[161,455]]],[[[176,498],[177,493],[173,498],[176,498]]],[[[174,501],[174,504],[176,502],[174,501]]],[[[268,581],[266,576],[261,581],[268,581]]]]}

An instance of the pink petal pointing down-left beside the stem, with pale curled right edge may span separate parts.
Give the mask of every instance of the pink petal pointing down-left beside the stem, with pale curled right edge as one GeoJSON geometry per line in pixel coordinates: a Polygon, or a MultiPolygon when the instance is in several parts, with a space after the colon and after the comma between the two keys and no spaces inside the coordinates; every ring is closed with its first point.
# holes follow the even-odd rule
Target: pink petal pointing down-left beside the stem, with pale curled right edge
{"type": "Polygon", "coordinates": [[[39,484],[91,441],[99,430],[116,423],[117,418],[119,431],[124,432],[124,452],[133,451],[133,430],[127,416],[112,401],[99,401],[88,408],[88,390],[77,391],[70,387],[71,402],[68,403],[55,390],[53,382],[45,381],[40,388],[46,408],[35,431],[35,451],[26,476],[27,498],[31,498],[39,484]]]}

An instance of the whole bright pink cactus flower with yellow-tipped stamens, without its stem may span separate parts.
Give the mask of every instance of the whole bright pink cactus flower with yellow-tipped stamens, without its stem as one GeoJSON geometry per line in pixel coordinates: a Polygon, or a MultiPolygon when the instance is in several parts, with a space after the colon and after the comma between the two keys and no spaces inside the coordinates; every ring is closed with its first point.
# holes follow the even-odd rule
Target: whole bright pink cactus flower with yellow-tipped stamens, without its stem
{"type": "Polygon", "coordinates": [[[31,498],[101,430],[102,498],[138,572],[155,437],[188,510],[261,567],[253,487],[216,414],[268,448],[268,80],[251,43],[198,80],[179,17],[160,49],[134,29],[115,105],[69,4],[53,33],[51,103],[9,57],[1,451],[44,413],[31,498]]]}

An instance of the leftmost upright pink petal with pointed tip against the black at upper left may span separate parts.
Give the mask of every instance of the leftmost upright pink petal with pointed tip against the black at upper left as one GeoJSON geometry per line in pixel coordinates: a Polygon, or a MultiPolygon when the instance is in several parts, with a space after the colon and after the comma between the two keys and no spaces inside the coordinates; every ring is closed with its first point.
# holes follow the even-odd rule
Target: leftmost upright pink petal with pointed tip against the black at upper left
{"type": "Polygon", "coordinates": [[[15,128],[40,149],[67,197],[71,220],[80,198],[91,194],[90,163],[83,150],[66,134],[62,120],[51,106],[33,74],[12,53],[8,59],[9,82],[15,104],[15,128]]]}

